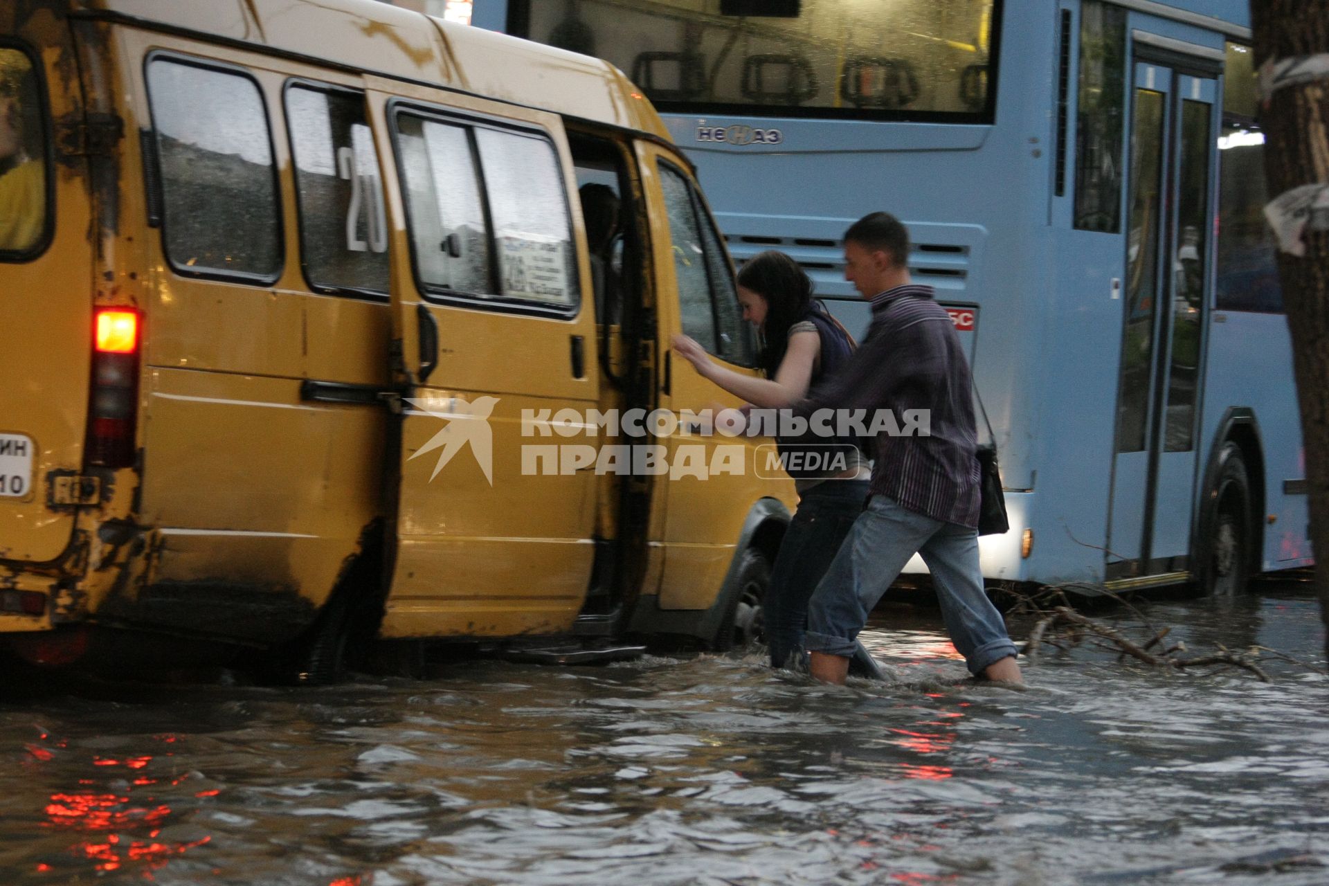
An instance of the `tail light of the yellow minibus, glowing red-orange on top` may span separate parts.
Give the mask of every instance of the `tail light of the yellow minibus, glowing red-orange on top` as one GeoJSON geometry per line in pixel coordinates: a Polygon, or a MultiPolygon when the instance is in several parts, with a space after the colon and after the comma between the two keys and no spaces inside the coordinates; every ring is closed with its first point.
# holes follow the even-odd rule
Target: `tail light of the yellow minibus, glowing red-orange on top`
{"type": "Polygon", "coordinates": [[[138,420],[137,311],[100,308],[92,355],[92,397],[88,409],[89,465],[129,468],[134,464],[138,420]]]}

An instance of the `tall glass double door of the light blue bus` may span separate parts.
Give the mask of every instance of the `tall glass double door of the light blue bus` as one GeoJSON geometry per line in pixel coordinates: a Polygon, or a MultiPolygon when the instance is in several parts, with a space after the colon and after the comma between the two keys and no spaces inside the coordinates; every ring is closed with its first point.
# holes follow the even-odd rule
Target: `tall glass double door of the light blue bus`
{"type": "Polygon", "coordinates": [[[1191,567],[1216,94],[1203,68],[1135,65],[1110,579],[1191,567]]]}

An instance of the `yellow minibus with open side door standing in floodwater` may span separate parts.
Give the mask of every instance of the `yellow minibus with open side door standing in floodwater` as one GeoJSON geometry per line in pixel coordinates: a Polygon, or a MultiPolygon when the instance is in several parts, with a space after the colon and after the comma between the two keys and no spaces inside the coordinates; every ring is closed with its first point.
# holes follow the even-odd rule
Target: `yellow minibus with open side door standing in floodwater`
{"type": "Polygon", "coordinates": [[[755,372],[691,166],[603,61],[376,0],[0,7],[31,662],[751,638],[792,484],[696,433],[734,404],[679,332],[755,372]]]}

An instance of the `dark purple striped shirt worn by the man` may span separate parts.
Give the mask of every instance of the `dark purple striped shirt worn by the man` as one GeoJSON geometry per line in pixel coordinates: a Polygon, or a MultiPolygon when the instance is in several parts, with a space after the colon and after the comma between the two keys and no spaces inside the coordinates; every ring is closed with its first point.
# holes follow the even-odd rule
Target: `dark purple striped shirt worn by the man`
{"type": "MultiPolygon", "coordinates": [[[[833,379],[793,406],[889,409],[905,426],[905,410],[930,414],[929,436],[877,434],[872,491],[924,517],[978,526],[978,442],[973,381],[954,323],[930,286],[897,286],[872,298],[872,325],[833,379]]],[[[924,426],[929,426],[924,424],[924,426]]]]}

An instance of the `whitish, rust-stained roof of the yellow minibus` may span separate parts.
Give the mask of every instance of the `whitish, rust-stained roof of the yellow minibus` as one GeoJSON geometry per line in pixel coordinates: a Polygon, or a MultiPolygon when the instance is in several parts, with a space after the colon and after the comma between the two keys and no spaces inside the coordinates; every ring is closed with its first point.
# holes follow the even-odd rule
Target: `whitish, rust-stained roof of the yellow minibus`
{"type": "Polygon", "coordinates": [[[379,0],[72,0],[70,5],[120,20],[206,33],[388,77],[439,84],[668,139],[650,100],[607,61],[379,0]]]}

